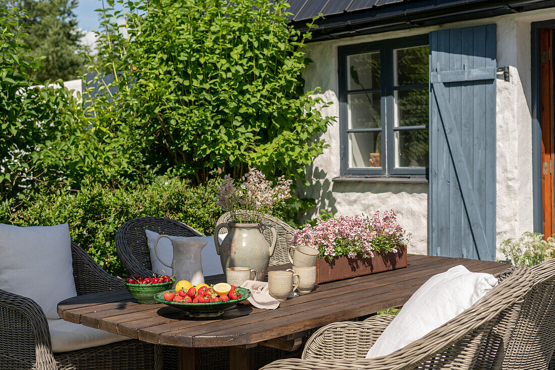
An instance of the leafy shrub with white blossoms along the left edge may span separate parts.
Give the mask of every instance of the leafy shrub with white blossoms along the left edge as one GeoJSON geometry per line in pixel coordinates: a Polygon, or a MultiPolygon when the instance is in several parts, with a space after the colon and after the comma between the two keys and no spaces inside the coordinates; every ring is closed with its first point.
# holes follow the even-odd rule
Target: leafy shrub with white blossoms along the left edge
{"type": "Polygon", "coordinates": [[[25,13],[0,9],[0,200],[10,204],[38,187],[78,188],[85,176],[109,179],[115,151],[100,144],[78,99],[63,86],[34,78],[41,60],[23,42],[25,13]],[[31,74],[28,71],[31,71],[31,74]]]}

